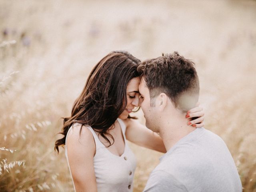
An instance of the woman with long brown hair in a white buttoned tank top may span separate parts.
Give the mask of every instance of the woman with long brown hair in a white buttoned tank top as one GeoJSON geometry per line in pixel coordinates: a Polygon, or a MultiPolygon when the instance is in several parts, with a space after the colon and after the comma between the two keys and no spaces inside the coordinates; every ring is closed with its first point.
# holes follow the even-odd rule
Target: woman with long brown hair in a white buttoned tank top
{"type": "MultiPolygon", "coordinates": [[[[132,191],[136,160],[126,139],[166,152],[158,134],[129,116],[139,106],[139,62],[128,52],[110,52],[92,69],[71,116],[64,118],[64,137],[56,141],[55,150],[66,144],[77,192],[132,191]]],[[[190,118],[195,114],[203,112],[196,107],[190,110],[190,118]]],[[[202,127],[202,120],[191,124],[202,127]]]]}

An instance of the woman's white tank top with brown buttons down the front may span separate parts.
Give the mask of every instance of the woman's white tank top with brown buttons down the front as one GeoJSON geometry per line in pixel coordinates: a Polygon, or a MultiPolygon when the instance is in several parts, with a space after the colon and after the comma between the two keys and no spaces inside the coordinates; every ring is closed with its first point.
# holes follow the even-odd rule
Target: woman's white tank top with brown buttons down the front
{"type": "MultiPolygon", "coordinates": [[[[132,192],[133,190],[133,177],[136,168],[136,158],[126,141],[126,126],[121,119],[117,120],[121,126],[125,143],[124,153],[121,156],[112,154],[108,148],[106,148],[106,146],[100,142],[94,130],[91,127],[87,127],[92,132],[96,144],[96,154],[93,158],[93,163],[98,192],[132,192]]],[[[68,133],[71,129],[72,128],[68,130],[68,133]]],[[[68,133],[66,136],[66,142],[68,133]]],[[[68,161],[66,145],[65,149],[65,155],[68,161]]],[[[69,163],[68,167],[70,170],[69,163]]]]}

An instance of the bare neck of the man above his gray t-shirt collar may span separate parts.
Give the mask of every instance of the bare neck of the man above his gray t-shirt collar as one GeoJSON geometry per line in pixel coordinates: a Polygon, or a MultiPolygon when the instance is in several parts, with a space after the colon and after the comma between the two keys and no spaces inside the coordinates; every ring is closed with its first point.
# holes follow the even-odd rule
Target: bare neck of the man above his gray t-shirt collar
{"type": "Polygon", "coordinates": [[[166,118],[162,122],[159,134],[162,137],[166,151],[170,150],[180,139],[194,131],[196,128],[188,126],[185,115],[166,118]]]}

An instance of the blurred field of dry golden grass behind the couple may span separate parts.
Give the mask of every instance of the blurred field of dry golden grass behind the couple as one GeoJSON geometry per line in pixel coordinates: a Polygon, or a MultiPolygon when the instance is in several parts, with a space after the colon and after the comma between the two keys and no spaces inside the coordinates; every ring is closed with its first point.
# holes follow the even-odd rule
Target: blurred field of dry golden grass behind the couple
{"type": "MultiPolygon", "coordinates": [[[[74,191],[54,152],[60,118],[112,50],[192,59],[205,128],[226,142],[244,192],[256,191],[255,0],[0,0],[1,192],[74,191]]],[[[130,146],[140,192],[162,154],[130,146]]]]}

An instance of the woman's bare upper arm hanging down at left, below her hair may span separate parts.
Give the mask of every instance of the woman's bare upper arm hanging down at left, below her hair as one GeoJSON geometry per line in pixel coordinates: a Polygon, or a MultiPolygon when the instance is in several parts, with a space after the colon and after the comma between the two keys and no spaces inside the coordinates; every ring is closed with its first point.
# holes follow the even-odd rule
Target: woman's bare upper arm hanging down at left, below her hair
{"type": "Polygon", "coordinates": [[[76,192],[97,192],[93,157],[96,146],[92,132],[81,126],[74,126],[67,138],[68,162],[76,192]]]}

